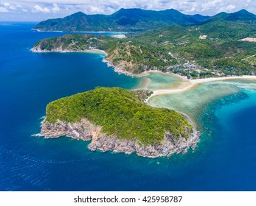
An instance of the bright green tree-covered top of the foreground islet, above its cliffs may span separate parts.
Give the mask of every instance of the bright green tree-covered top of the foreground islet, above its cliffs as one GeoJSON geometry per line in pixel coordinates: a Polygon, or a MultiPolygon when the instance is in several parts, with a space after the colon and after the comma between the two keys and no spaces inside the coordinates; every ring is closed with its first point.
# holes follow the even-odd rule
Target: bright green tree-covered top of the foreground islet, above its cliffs
{"type": "Polygon", "coordinates": [[[96,88],[58,99],[46,107],[46,121],[77,122],[86,118],[102,127],[107,135],[139,141],[143,145],[161,143],[165,132],[174,138],[188,138],[192,126],[181,114],[150,107],[122,88],[96,88]]]}

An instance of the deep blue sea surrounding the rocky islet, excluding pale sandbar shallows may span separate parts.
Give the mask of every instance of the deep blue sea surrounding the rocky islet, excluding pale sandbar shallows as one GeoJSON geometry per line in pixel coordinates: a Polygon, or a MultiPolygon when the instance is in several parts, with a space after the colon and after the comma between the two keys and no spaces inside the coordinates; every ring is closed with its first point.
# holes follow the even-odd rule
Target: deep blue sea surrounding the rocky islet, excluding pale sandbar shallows
{"type": "Polygon", "coordinates": [[[55,99],[139,85],[99,54],[32,53],[38,40],[63,35],[33,25],[0,23],[0,191],[256,191],[255,90],[208,104],[199,119],[201,143],[170,158],[90,152],[83,141],[33,137],[55,99]]]}

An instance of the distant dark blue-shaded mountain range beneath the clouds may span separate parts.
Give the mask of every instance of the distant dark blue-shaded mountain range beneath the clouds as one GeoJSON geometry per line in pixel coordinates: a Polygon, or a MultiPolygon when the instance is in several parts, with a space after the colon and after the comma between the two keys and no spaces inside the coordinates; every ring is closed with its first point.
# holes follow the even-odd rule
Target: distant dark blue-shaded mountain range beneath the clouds
{"type": "Polygon", "coordinates": [[[120,9],[111,15],[86,15],[78,12],[65,18],[41,21],[33,29],[63,32],[137,32],[179,24],[181,26],[206,24],[210,21],[241,21],[255,24],[256,15],[246,10],[236,13],[219,13],[212,17],[204,15],[185,15],[177,10],[120,9]]]}

